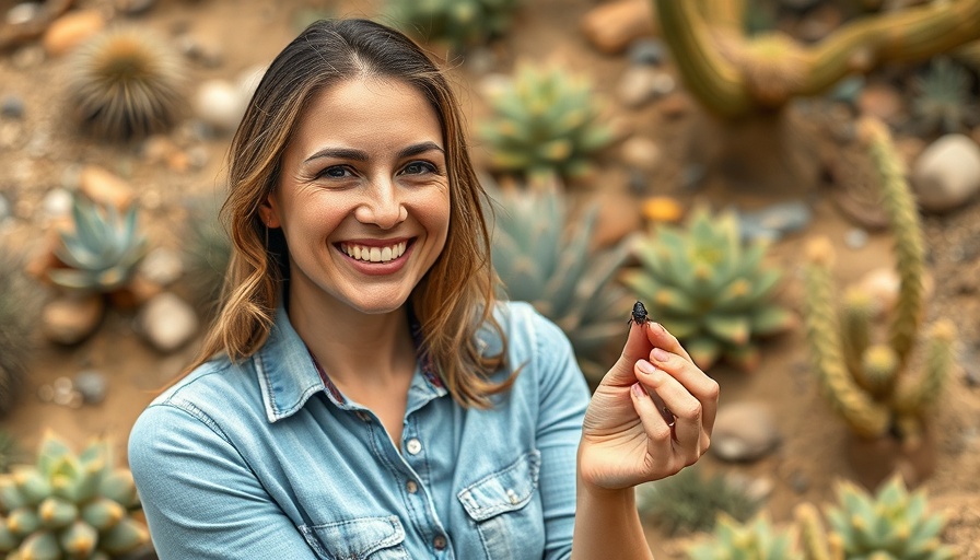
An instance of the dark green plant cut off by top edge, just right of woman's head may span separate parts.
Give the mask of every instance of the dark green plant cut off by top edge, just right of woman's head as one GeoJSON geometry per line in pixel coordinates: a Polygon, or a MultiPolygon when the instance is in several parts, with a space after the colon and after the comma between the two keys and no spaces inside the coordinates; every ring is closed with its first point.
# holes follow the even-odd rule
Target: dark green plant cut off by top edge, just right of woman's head
{"type": "Polygon", "coordinates": [[[385,21],[454,52],[503,37],[521,0],[388,0],[385,21]]]}

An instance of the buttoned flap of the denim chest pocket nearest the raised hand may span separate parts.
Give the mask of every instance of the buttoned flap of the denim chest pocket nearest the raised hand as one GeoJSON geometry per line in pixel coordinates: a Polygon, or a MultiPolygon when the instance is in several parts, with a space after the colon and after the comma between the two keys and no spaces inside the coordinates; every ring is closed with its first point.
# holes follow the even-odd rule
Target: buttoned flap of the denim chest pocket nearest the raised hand
{"type": "Polygon", "coordinates": [[[541,453],[532,450],[516,462],[477,480],[456,494],[466,513],[474,521],[486,521],[494,515],[524,508],[538,486],[541,453]]]}

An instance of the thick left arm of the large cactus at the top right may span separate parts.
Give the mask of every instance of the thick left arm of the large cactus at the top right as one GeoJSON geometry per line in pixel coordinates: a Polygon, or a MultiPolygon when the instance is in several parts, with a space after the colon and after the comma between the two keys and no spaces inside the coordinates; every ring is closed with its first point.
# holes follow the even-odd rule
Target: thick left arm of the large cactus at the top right
{"type": "Polygon", "coordinates": [[[687,89],[719,115],[735,117],[749,113],[754,104],[744,78],[714,45],[711,28],[697,3],[651,1],[661,34],[670,47],[687,89]]]}

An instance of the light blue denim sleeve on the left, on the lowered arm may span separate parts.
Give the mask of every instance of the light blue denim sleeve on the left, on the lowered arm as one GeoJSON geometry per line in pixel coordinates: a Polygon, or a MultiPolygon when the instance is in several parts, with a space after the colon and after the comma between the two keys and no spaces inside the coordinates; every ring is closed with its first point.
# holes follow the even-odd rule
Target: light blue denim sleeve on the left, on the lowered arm
{"type": "Polygon", "coordinates": [[[161,560],[316,557],[220,428],[197,410],[149,407],[129,466],[161,560]]]}

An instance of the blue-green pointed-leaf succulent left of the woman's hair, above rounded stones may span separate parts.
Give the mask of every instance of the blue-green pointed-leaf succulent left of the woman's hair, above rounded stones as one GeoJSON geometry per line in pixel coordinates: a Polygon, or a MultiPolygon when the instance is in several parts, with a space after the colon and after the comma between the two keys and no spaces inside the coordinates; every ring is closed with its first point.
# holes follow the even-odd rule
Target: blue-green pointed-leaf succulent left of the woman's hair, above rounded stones
{"type": "Polygon", "coordinates": [[[72,195],[72,231],[61,232],[55,255],[68,267],[48,271],[56,284],[91,292],[126,285],[147,253],[147,237],[137,226],[137,207],[125,215],[77,190],[72,195]]]}

